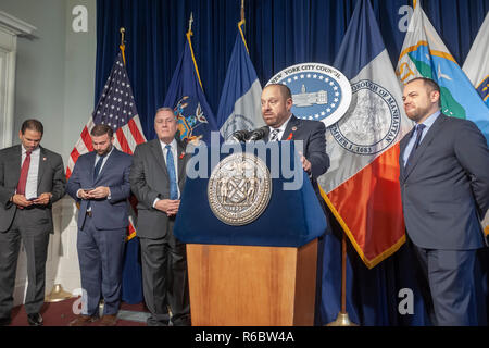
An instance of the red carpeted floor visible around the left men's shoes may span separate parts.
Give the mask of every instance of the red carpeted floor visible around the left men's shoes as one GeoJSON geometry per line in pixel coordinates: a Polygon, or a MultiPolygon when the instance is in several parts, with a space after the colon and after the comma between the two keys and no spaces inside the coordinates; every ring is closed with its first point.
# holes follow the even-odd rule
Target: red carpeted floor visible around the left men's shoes
{"type": "MultiPolygon", "coordinates": [[[[67,324],[76,318],[73,306],[78,298],[72,298],[60,302],[45,303],[41,310],[45,326],[67,326],[67,324]]],[[[78,301],[79,302],[79,301],[78,301]]],[[[146,326],[143,321],[148,310],[143,303],[128,304],[121,303],[117,326],[146,326]],[[135,321],[127,320],[136,318],[135,321]]],[[[12,323],[10,326],[28,326],[27,314],[24,306],[15,307],[12,310],[12,323]]],[[[98,322],[91,323],[89,326],[98,326],[98,322]]]]}

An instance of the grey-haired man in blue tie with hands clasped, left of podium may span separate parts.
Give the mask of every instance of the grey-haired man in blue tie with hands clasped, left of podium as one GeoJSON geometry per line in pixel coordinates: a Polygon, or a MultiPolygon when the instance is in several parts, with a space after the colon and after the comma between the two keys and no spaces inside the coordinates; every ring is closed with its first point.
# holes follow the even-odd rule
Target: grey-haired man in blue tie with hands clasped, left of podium
{"type": "Polygon", "coordinates": [[[168,306],[173,325],[189,325],[186,250],[173,235],[188,156],[175,139],[177,122],[172,109],[158,110],[154,130],[158,139],[136,147],[130,170],[130,187],[138,199],[142,287],[151,312],[148,325],[168,325],[168,306]]]}

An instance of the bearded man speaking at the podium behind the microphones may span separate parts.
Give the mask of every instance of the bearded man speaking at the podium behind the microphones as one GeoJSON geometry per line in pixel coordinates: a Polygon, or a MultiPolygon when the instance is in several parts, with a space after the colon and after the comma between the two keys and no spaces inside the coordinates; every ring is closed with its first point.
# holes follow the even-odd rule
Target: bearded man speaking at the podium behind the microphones
{"type": "MultiPolygon", "coordinates": [[[[310,175],[319,201],[317,177],[329,167],[326,153],[326,127],[323,122],[299,120],[291,113],[293,105],[290,89],[280,84],[271,84],[262,91],[262,116],[268,126],[265,140],[302,140],[304,152],[301,154],[303,170],[310,175]]],[[[324,207],[324,206],[323,206],[324,207]]]]}

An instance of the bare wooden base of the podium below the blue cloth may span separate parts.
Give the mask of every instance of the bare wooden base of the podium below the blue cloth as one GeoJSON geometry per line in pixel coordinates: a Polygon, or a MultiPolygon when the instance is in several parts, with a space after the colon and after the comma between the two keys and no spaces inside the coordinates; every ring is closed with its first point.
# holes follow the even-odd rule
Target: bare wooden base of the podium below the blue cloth
{"type": "Polygon", "coordinates": [[[300,248],[187,245],[193,326],[312,326],[317,239],[300,248]]]}

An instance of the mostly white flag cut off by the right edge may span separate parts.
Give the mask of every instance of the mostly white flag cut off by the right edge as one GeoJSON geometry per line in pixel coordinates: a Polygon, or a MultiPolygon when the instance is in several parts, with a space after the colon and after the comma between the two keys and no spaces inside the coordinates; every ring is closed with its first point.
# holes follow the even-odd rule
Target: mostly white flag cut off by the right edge
{"type": "Polygon", "coordinates": [[[489,108],[489,12],[462,67],[489,108]]]}

